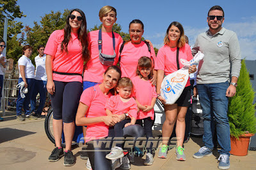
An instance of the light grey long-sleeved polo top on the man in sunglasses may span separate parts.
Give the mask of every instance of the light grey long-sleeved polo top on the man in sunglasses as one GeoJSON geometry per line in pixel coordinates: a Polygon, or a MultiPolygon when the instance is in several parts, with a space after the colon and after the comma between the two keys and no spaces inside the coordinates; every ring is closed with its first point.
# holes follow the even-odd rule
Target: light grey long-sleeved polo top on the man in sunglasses
{"type": "Polygon", "coordinates": [[[223,83],[231,76],[238,78],[241,68],[241,54],[236,33],[225,28],[212,35],[208,30],[199,34],[193,55],[200,50],[204,59],[198,65],[196,83],[223,83]]]}

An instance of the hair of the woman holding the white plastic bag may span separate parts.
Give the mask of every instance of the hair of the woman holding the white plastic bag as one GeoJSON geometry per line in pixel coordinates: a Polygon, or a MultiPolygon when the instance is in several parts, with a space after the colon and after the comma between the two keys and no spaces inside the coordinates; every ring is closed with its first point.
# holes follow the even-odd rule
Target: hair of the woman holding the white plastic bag
{"type": "Polygon", "coordinates": [[[170,43],[170,40],[168,38],[168,32],[169,32],[170,28],[172,27],[172,25],[177,27],[180,31],[180,39],[178,41],[177,47],[181,48],[182,46],[184,46],[186,44],[186,39],[185,39],[185,36],[184,36],[184,29],[183,29],[182,25],[177,21],[173,21],[169,25],[168,29],[166,30],[166,33],[165,33],[165,36],[164,36],[164,45],[168,45],[170,43]]]}

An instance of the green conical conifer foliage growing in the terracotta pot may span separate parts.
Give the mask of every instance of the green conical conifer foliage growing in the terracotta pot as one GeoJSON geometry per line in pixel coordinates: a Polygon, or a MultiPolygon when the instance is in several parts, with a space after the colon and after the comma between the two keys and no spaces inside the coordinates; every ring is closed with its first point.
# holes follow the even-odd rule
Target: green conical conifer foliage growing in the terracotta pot
{"type": "Polygon", "coordinates": [[[230,135],[239,138],[246,132],[255,134],[256,118],[253,99],[255,92],[250,82],[250,76],[242,60],[240,75],[237,81],[236,95],[229,99],[228,120],[230,135]]]}

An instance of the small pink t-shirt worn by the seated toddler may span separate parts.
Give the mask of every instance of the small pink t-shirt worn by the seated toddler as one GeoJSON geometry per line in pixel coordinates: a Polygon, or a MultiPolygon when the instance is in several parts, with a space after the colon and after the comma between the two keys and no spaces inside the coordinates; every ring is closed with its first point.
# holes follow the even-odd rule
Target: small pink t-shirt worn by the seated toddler
{"type": "Polygon", "coordinates": [[[132,97],[129,101],[124,103],[118,94],[116,96],[111,96],[105,105],[105,109],[112,111],[113,114],[121,115],[128,113],[129,117],[137,118],[138,107],[136,101],[132,97]]]}

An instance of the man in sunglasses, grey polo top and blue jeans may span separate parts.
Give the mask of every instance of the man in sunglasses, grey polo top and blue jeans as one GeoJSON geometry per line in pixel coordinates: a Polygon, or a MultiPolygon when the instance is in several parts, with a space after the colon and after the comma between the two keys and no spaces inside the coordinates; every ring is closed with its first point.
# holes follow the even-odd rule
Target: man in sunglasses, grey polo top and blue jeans
{"type": "Polygon", "coordinates": [[[198,36],[192,50],[193,55],[198,50],[205,55],[198,66],[196,78],[204,117],[204,146],[193,157],[199,159],[212,155],[214,117],[218,143],[221,146],[221,150],[218,150],[218,168],[228,169],[231,149],[227,117],[228,97],[236,94],[241,55],[236,33],[221,27],[224,22],[224,11],[220,6],[212,6],[208,12],[207,22],[209,30],[198,36]]]}

